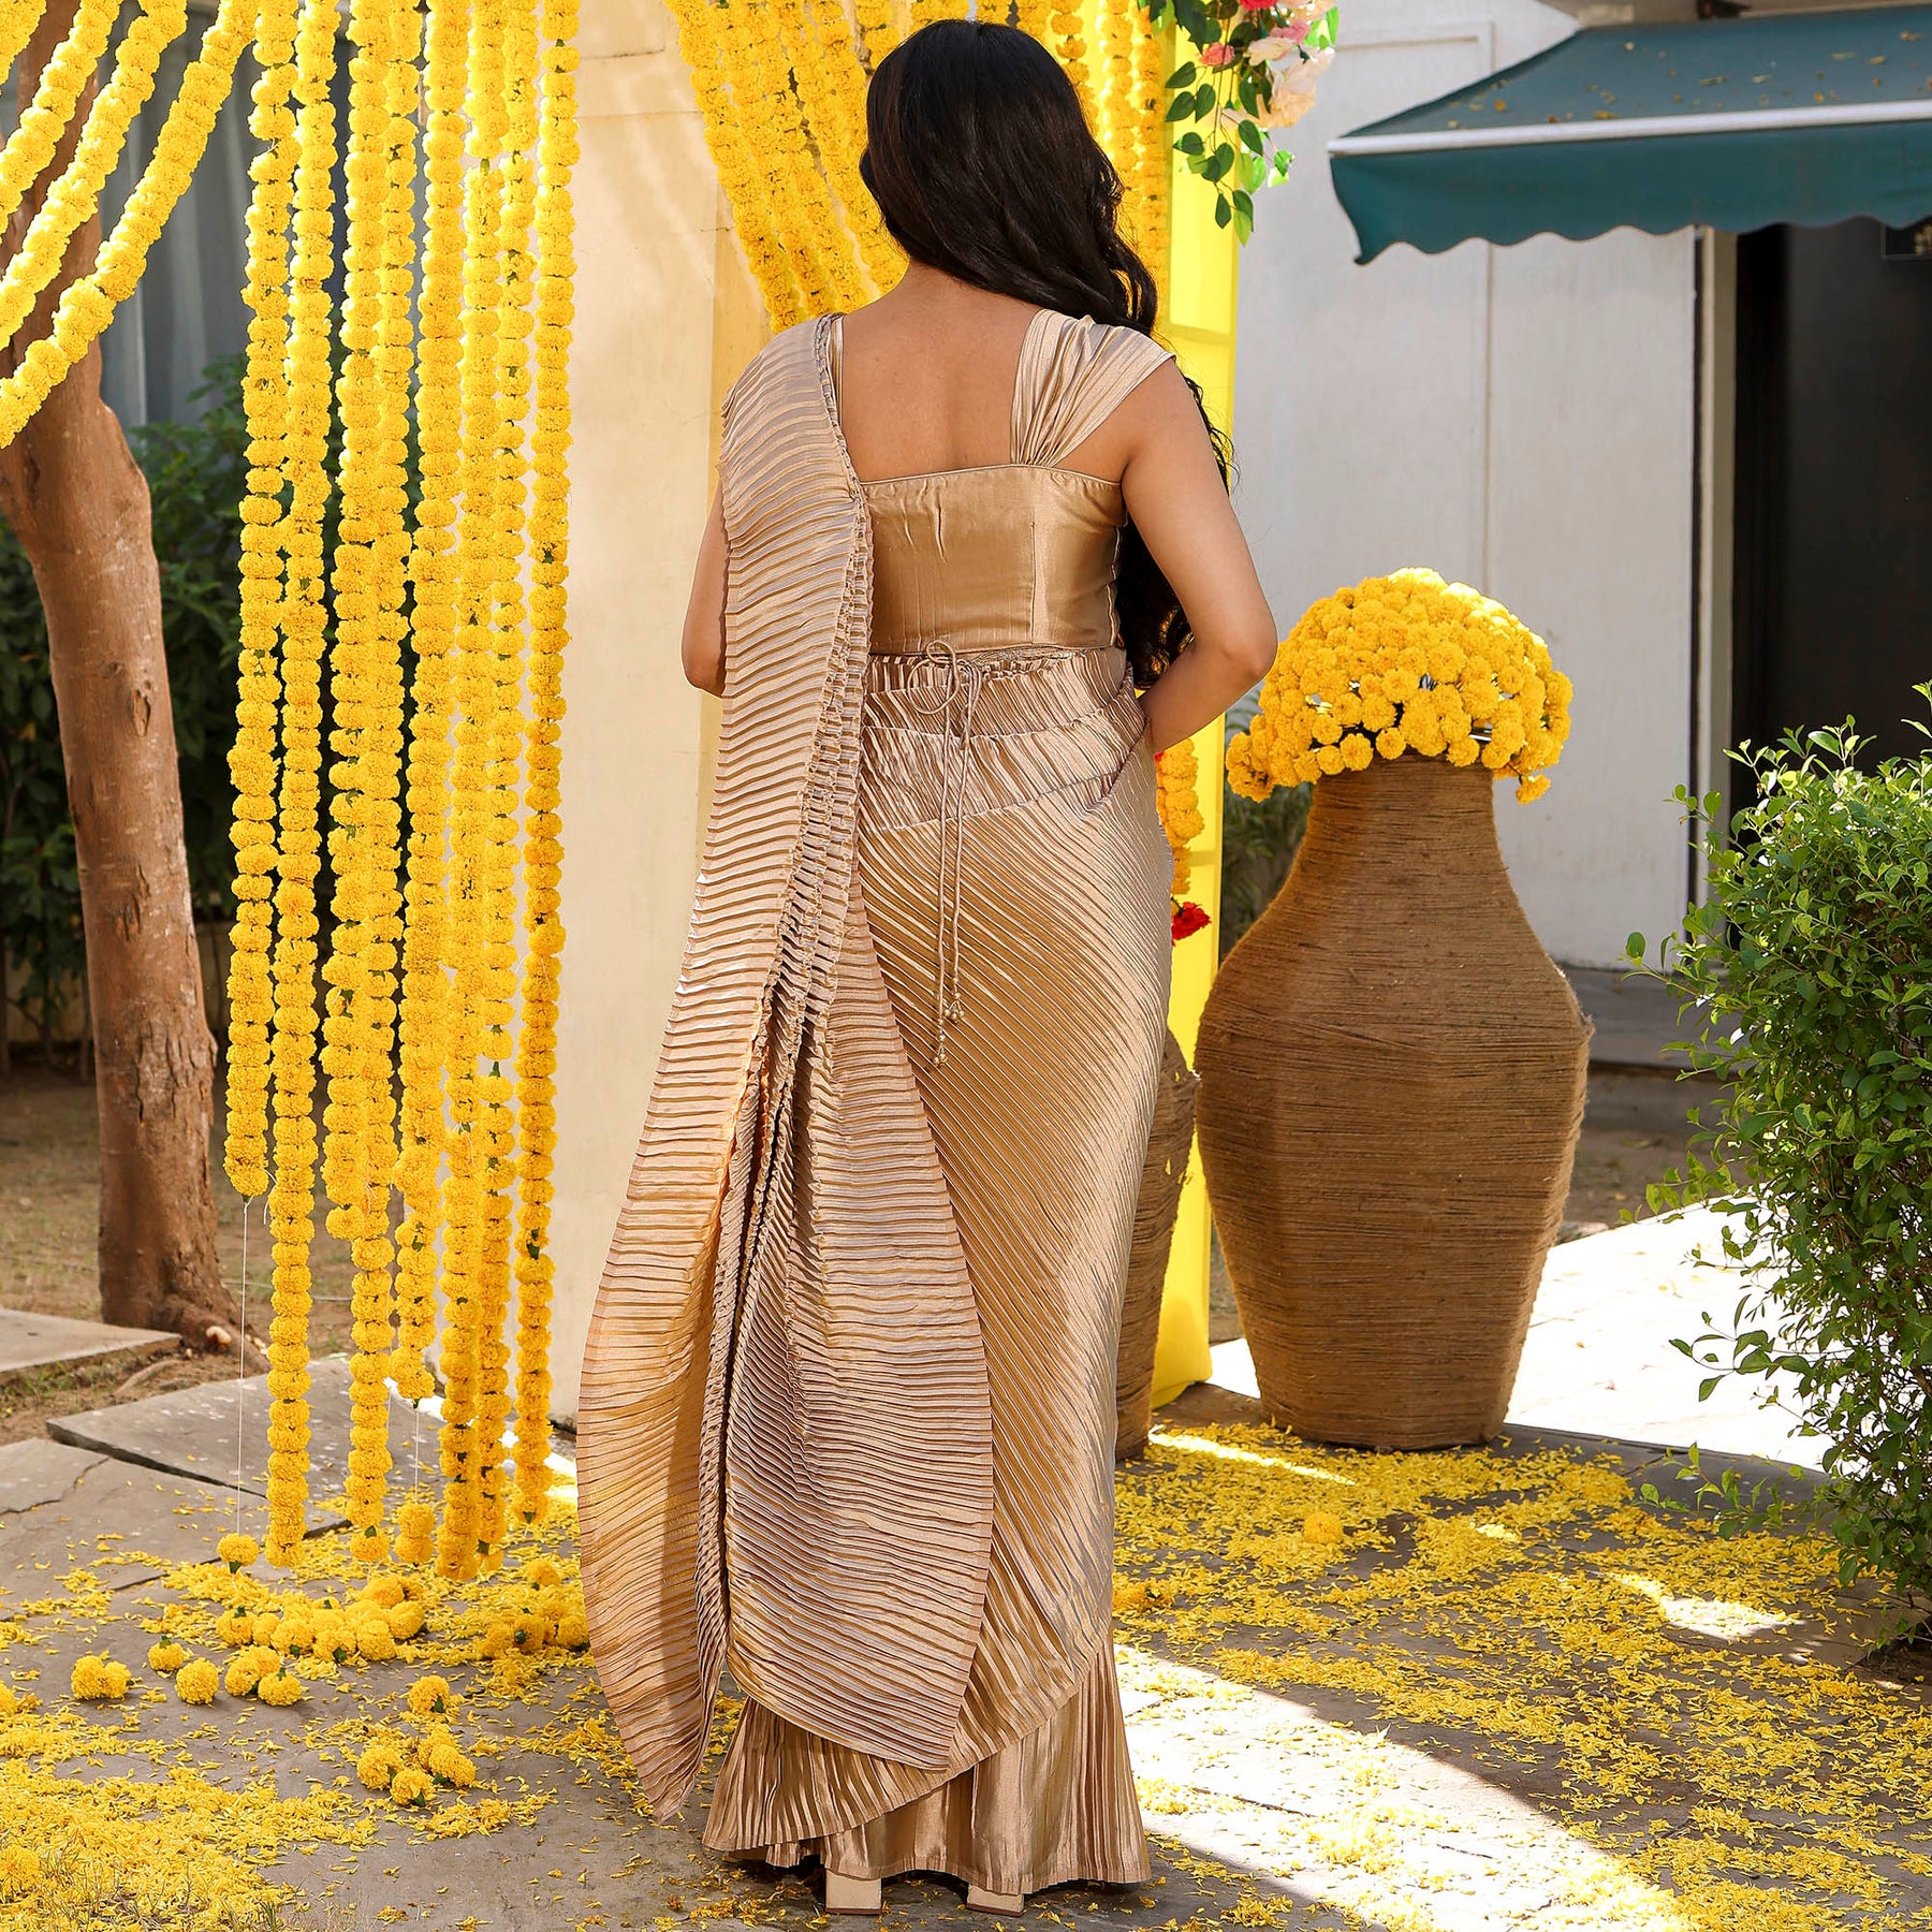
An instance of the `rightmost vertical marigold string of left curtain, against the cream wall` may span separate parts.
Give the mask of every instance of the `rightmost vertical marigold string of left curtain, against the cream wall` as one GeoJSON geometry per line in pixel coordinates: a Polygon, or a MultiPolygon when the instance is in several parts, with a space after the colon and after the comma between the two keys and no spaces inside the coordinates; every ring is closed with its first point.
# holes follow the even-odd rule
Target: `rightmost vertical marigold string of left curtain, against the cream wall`
{"type": "Polygon", "coordinates": [[[558,740],[564,717],[564,578],[570,566],[570,315],[576,230],[570,174],[578,160],[578,0],[545,0],[543,104],[537,135],[537,288],[531,497],[529,684],[524,794],[524,985],[516,1039],[516,1513],[537,1522],[551,1478],[551,1173],[556,1150],[556,983],[564,848],[558,740]]]}

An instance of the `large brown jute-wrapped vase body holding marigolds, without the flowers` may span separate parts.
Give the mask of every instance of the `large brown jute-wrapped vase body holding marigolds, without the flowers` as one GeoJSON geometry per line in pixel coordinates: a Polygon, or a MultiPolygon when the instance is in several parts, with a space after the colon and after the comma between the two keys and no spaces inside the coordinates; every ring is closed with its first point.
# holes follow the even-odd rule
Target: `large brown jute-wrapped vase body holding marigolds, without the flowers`
{"type": "Polygon", "coordinates": [[[1318,1441],[1493,1435],[1569,1192],[1590,1028],[1492,790],[1414,755],[1323,779],[1202,1014],[1202,1163],[1262,1401],[1318,1441]]]}

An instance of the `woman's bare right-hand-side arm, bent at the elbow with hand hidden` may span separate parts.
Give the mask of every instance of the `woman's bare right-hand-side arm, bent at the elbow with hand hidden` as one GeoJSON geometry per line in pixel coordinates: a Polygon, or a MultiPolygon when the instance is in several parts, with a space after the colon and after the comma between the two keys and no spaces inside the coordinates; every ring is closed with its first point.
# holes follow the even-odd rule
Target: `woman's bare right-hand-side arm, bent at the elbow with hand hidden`
{"type": "Polygon", "coordinates": [[[1107,427],[1115,425],[1126,439],[1126,514],[1194,632],[1146,697],[1150,740],[1165,752],[1267,672],[1279,634],[1180,371],[1167,363],[1148,377],[1107,427]]]}

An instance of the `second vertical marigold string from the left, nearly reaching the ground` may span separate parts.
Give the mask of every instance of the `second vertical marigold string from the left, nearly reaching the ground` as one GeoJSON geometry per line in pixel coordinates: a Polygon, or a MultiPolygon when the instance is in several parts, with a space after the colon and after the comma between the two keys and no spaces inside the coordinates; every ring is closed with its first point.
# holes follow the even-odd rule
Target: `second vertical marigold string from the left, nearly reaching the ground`
{"type": "Polygon", "coordinates": [[[323,510],[328,502],[328,274],[334,0],[296,39],[298,160],[282,533],[282,802],[274,947],[274,1321],[269,1331],[269,1559],[292,1563],[309,1493],[309,1242],[315,1233],[315,879],[321,856],[323,510]]]}

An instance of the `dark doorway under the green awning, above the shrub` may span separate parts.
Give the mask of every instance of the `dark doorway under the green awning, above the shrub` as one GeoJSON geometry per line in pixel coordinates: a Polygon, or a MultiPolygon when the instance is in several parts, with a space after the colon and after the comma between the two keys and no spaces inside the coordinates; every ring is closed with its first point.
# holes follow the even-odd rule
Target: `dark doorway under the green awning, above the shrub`
{"type": "Polygon", "coordinates": [[[1932,257],[1878,222],[1737,243],[1733,738],[1917,753],[1932,680],[1932,257]]]}

